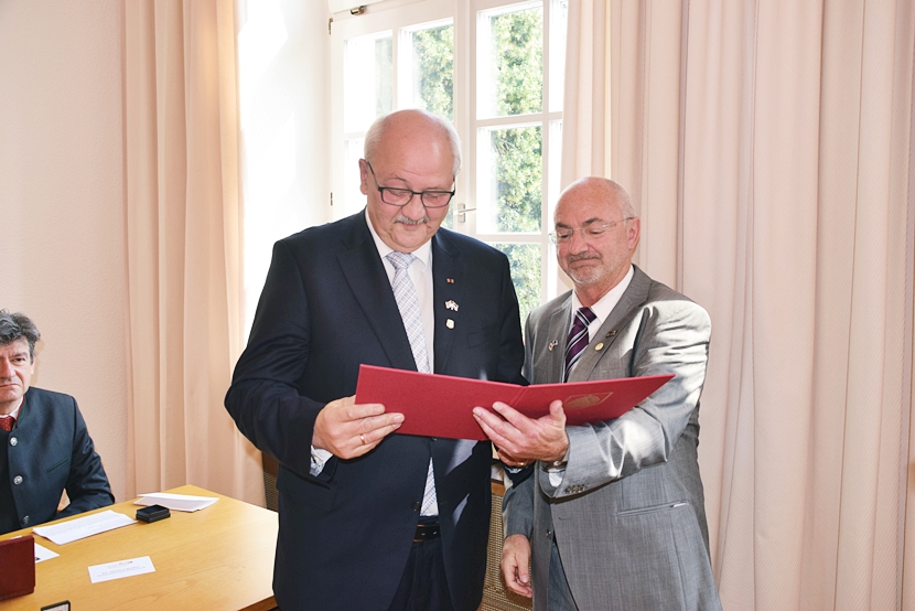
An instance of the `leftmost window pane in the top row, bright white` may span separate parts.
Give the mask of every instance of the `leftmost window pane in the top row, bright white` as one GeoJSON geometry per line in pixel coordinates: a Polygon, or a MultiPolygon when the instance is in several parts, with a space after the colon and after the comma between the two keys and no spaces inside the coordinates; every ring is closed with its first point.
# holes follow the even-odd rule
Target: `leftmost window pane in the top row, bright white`
{"type": "Polygon", "coordinates": [[[343,130],[365,131],[394,105],[391,34],[349,39],[343,56],[343,130]]]}

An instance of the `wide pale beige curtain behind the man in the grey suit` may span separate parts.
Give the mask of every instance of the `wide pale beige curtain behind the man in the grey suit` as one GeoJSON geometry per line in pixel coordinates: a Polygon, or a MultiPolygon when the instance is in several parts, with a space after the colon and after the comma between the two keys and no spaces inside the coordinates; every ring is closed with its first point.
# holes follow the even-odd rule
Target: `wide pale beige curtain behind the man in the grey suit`
{"type": "Polygon", "coordinates": [[[913,3],[570,18],[564,135],[585,140],[563,183],[628,187],[637,262],[712,315],[699,451],[724,608],[915,609],[913,3]]]}

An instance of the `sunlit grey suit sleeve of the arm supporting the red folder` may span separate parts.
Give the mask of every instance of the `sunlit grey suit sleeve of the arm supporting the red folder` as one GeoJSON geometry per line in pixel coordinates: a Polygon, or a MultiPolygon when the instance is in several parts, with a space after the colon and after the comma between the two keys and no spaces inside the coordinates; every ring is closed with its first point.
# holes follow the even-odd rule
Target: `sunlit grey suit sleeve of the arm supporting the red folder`
{"type": "Polygon", "coordinates": [[[675,374],[640,405],[614,420],[568,427],[569,459],[558,486],[540,469],[541,489],[560,499],[666,462],[699,404],[706,379],[711,321],[687,300],[643,308],[623,331],[631,342],[629,376],[675,374]]]}

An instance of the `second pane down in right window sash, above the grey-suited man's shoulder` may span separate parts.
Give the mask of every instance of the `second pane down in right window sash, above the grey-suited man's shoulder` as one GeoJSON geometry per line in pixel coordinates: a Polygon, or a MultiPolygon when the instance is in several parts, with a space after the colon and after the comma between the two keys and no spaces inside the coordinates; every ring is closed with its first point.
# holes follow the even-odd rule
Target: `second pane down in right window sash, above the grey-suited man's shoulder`
{"type": "Polygon", "coordinates": [[[540,233],[540,126],[484,128],[478,142],[478,232],[540,233]]]}

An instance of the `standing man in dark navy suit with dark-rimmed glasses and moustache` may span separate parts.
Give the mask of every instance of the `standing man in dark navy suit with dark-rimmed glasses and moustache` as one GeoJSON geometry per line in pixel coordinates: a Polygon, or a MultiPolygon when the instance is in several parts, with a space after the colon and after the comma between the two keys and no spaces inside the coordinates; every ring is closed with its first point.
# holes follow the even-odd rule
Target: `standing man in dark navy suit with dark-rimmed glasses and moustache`
{"type": "Polygon", "coordinates": [[[383,117],[359,160],[365,211],[273,247],[226,407],[280,463],[283,610],[482,599],[491,444],[390,435],[402,415],[352,397],[363,363],[523,382],[507,258],[439,228],[460,164],[446,120],[383,117]]]}

